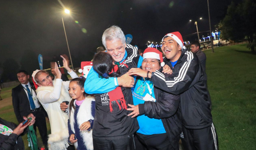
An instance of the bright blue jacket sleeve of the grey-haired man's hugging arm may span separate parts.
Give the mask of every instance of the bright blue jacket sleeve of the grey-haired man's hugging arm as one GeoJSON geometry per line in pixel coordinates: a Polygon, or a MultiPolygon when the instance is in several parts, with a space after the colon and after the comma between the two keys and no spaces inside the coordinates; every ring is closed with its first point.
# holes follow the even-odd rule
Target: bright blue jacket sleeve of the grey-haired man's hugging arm
{"type": "Polygon", "coordinates": [[[87,94],[101,94],[101,93],[110,92],[114,90],[117,86],[118,86],[117,79],[115,78],[101,79],[99,78],[99,74],[96,71],[94,71],[92,67],[84,83],[84,91],[87,94]]]}

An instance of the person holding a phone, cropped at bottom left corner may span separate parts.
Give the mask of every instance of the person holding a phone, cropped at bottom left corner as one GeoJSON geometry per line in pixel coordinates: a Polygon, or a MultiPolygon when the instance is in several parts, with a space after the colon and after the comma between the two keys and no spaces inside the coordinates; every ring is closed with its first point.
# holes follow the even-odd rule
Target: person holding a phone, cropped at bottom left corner
{"type": "Polygon", "coordinates": [[[36,117],[33,114],[29,114],[27,117],[24,116],[23,119],[27,120],[27,123],[24,121],[16,125],[0,117],[0,150],[25,149],[21,136],[26,133],[25,130],[28,126],[35,124],[36,117]]]}

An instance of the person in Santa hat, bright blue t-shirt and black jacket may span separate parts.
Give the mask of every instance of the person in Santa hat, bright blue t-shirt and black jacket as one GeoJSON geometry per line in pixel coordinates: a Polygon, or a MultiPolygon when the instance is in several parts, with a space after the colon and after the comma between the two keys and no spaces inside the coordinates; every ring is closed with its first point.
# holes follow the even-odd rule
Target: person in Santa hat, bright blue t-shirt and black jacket
{"type": "MultiPolygon", "coordinates": [[[[162,53],[155,48],[147,48],[143,53],[140,73],[161,70],[162,53]]],[[[164,64],[162,63],[162,66],[164,64]]],[[[166,74],[168,75],[168,74],[166,74]]],[[[178,115],[180,96],[166,93],[157,87],[149,78],[136,78],[132,97],[134,105],[129,105],[133,112],[128,116],[137,116],[140,129],[136,133],[136,149],[178,150],[181,123],[178,115]]]]}

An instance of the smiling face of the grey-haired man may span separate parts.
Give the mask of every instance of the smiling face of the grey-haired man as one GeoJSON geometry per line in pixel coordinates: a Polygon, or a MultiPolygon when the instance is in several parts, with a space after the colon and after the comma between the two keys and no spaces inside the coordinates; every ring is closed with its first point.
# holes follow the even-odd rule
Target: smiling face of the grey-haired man
{"type": "Polygon", "coordinates": [[[107,52],[116,62],[124,58],[126,44],[121,41],[106,41],[107,52]]]}

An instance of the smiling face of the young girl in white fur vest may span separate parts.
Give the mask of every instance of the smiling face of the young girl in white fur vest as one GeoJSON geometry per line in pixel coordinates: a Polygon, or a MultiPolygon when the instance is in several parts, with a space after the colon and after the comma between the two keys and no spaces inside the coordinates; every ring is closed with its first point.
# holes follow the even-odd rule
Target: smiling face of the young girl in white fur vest
{"type": "Polygon", "coordinates": [[[72,81],[69,83],[68,92],[72,99],[76,99],[77,101],[84,100],[84,88],[81,88],[76,81],[72,81]]]}

